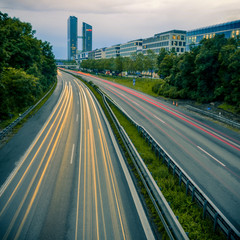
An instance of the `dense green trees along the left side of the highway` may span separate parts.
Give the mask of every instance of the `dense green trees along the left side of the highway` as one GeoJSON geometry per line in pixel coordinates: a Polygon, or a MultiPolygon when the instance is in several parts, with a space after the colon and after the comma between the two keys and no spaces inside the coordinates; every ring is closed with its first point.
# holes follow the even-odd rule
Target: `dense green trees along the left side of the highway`
{"type": "Polygon", "coordinates": [[[0,12],[0,120],[33,105],[56,81],[52,46],[30,23],[0,12]]]}

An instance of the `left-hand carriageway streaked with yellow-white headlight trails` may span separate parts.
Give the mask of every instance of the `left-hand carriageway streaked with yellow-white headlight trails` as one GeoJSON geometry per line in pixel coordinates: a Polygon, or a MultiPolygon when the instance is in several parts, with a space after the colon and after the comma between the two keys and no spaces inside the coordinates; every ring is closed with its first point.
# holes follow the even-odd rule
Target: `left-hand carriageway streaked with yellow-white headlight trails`
{"type": "Polygon", "coordinates": [[[95,97],[63,72],[58,91],[26,151],[14,158],[24,131],[7,143],[16,162],[0,188],[0,239],[155,239],[95,97]]]}

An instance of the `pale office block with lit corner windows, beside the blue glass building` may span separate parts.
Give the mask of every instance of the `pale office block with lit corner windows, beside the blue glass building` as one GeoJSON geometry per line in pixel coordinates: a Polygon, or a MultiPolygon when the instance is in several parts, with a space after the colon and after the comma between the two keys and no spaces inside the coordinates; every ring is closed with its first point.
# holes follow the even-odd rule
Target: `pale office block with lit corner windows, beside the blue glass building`
{"type": "Polygon", "coordinates": [[[147,54],[147,50],[152,50],[158,54],[162,48],[165,48],[167,51],[174,50],[177,54],[185,52],[186,31],[171,30],[143,39],[142,52],[144,55],[147,54]]]}

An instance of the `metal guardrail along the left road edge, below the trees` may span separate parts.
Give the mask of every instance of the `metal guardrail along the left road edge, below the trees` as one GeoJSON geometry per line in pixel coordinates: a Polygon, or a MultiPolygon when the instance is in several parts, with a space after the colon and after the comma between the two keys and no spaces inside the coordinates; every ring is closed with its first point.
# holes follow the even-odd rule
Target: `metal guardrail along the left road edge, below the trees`
{"type": "Polygon", "coordinates": [[[19,123],[21,122],[34,108],[38,106],[39,103],[42,102],[42,100],[52,91],[54,88],[55,84],[51,87],[51,89],[33,106],[28,108],[21,116],[19,116],[15,121],[13,121],[11,124],[9,124],[6,128],[4,128],[0,132],[0,140],[2,140],[12,129],[19,123]]]}

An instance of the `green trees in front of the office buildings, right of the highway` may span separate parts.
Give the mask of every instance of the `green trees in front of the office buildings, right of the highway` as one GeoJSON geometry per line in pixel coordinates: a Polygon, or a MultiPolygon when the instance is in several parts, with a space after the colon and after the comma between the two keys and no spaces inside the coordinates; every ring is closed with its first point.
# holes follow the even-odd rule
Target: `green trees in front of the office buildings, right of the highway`
{"type": "Polygon", "coordinates": [[[240,41],[216,35],[189,52],[177,55],[161,49],[131,57],[85,60],[83,69],[116,72],[154,71],[164,81],[153,87],[159,95],[198,102],[224,101],[240,111],[240,41]]]}

